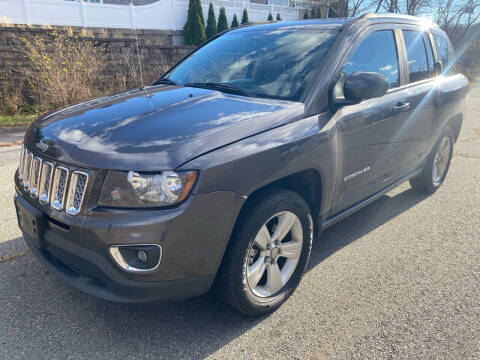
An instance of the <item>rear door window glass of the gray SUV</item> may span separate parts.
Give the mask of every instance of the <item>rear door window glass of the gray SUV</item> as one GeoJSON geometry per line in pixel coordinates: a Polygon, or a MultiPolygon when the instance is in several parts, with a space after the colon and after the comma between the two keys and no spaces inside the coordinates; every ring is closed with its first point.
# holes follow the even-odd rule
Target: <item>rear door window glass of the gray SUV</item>
{"type": "Polygon", "coordinates": [[[407,49],[408,74],[410,83],[429,78],[427,53],[420,31],[403,30],[403,39],[407,49]]]}

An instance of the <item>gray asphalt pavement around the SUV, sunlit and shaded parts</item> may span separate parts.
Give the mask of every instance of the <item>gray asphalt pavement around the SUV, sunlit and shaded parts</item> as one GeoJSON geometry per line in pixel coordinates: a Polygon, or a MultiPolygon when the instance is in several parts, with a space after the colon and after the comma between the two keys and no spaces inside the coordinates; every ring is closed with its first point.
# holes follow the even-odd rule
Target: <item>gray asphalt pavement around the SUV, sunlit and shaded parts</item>
{"type": "Polygon", "coordinates": [[[0,359],[480,358],[479,118],[474,86],[442,188],[404,184],[326,230],[295,294],[259,319],[212,295],[119,305],[64,284],[20,238],[19,146],[1,146],[0,359]]]}

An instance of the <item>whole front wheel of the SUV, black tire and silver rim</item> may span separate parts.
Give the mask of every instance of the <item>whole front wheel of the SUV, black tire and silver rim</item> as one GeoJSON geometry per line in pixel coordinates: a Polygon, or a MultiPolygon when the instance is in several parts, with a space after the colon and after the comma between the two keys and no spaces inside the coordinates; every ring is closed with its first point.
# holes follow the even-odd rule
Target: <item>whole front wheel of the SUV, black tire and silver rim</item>
{"type": "Polygon", "coordinates": [[[251,199],[234,228],[217,275],[217,292],[249,316],[276,310],[300,283],[312,240],[310,208],[300,195],[276,189],[251,199]]]}

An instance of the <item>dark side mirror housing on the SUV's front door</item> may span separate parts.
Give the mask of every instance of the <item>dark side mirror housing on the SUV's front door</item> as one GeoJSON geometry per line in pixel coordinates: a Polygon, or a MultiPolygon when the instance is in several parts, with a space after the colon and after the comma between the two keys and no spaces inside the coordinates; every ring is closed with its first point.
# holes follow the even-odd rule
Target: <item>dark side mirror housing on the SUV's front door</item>
{"type": "Polygon", "coordinates": [[[356,71],[345,80],[343,93],[346,100],[359,102],[385,95],[388,86],[387,78],[379,73],[356,71]]]}

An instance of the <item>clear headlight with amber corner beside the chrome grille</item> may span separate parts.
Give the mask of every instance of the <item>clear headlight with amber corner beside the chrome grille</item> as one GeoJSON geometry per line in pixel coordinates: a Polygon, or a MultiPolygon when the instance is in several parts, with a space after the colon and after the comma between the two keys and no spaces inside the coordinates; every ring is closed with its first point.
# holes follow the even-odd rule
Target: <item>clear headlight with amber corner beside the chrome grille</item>
{"type": "Polygon", "coordinates": [[[197,178],[195,171],[138,173],[108,171],[98,200],[113,207],[170,206],[183,201],[197,178]]]}

